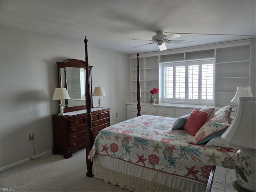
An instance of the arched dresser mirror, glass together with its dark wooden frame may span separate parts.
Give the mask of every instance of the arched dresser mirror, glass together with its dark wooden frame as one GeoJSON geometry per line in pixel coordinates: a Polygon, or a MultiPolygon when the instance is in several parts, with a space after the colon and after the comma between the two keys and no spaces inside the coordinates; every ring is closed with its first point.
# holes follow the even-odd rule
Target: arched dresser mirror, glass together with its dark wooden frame
{"type": "MultiPolygon", "coordinates": [[[[65,87],[70,96],[69,100],[63,101],[65,103],[64,112],[85,109],[85,62],[82,60],[68,59],[64,62],[57,62],[57,64],[59,87],[65,87]]],[[[89,83],[92,98],[92,66],[89,66],[89,83]]]]}

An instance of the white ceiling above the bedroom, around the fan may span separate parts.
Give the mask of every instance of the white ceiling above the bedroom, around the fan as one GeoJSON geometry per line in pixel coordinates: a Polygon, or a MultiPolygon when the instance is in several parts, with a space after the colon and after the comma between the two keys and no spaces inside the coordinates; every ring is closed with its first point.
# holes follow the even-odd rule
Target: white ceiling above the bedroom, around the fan
{"type": "MultiPolygon", "coordinates": [[[[159,50],[156,30],[189,35],[190,46],[255,37],[255,0],[0,0],[0,23],[125,54],[159,50]],[[132,49],[133,48],[133,49],[132,49]]],[[[187,45],[166,44],[168,49],[187,45]]]]}

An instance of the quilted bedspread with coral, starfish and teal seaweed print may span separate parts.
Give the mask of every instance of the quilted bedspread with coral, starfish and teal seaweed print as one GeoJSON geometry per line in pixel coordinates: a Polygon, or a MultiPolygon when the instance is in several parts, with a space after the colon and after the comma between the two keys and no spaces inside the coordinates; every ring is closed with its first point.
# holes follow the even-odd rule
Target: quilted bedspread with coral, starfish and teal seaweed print
{"type": "Polygon", "coordinates": [[[232,168],[234,152],[188,144],[194,136],[172,130],[176,118],[138,116],[102,130],[90,151],[207,183],[212,165],[232,168]]]}

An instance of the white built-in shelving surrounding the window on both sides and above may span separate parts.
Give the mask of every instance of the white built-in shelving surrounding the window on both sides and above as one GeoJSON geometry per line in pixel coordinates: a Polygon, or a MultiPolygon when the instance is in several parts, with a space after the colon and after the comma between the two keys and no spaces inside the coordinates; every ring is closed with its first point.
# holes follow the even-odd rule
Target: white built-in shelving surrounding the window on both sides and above
{"type": "MultiPolygon", "coordinates": [[[[214,99],[216,108],[231,104],[236,93],[237,86],[255,86],[249,84],[250,80],[250,52],[251,40],[239,40],[234,42],[195,46],[175,50],[166,50],[155,53],[140,54],[140,86],[141,104],[149,104],[150,90],[159,88],[159,94],[155,94],[157,104],[162,104],[162,64],[166,62],[215,58],[215,87],[214,99]]],[[[255,57],[255,55],[254,55],[255,57]]],[[[255,64],[254,64],[255,65],[255,64]]],[[[255,74],[254,74],[255,75],[255,74]]],[[[136,104],[137,86],[137,56],[130,56],[130,102],[136,104]]],[[[129,105],[131,104],[129,103],[129,105]]],[[[236,104],[234,105],[234,109],[236,104]]]]}

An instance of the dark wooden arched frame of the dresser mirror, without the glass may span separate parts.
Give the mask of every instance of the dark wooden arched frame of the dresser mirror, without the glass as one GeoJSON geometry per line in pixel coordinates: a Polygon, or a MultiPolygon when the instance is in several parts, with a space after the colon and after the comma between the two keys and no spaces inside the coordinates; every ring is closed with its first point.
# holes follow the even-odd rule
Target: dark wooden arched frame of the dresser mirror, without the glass
{"type": "MultiPolygon", "coordinates": [[[[61,68],[66,67],[76,67],[76,68],[84,68],[86,70],[86,63],[83,60],[78,59],[67,59],[63,62],[56,62],[58,65],[58,79],[59,79],[59,87],[62,87],[62,78],[61,78],[61,68]]],[[[90,89],[91,89],[91,99],[92,99],[92,66],[89,66],[89,78],[90,78],[90,89]]],[[[64,74],[64,87],[68,90],[66,72],[64,74]]],[[[76,111],[86,109],[86,105],[73,106],[68,107],[68,100],[65,100],[66,106],[64,107],[64,112],[76,111]]],[[[92,102],[91,102],[91,107],[92,102]]]]}

